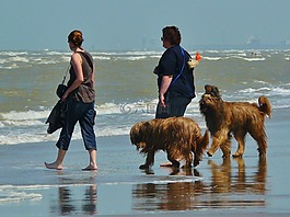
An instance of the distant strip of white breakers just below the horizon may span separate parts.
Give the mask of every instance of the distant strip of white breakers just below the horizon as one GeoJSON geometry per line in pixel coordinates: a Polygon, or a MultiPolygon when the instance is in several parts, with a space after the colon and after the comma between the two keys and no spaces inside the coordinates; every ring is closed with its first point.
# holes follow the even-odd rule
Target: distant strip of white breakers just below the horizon
{"type": "MultiPolygon", "coordinates": [[[[163,52],[91,52],[92,56],[96,60],[123,60],[123,61],[138,61],[143,59],[159,59],[163,52]]],[[[188,52],[192,56],[195,56],[196,50],[188,52]]],[[[199,50],[202,59],[208,61],[227,60],[227,59],[242,59],[245,61],[265,61],[270,55],[275,55],[274,52],[268,52],[262,55],[260,52],[253,50],[199,50]]],[[[280,54],[280,52],[277,52],[280,54]]],[[[288,53],[285,53],[285,60],[289,60],[288,53]]],[[[0,68],[14,69],[22,65],[56,65],[67,64],[70,60],[71,53],[69,52],[54,52],[43,50],[36,52],[0,52],[0,68]]]]}

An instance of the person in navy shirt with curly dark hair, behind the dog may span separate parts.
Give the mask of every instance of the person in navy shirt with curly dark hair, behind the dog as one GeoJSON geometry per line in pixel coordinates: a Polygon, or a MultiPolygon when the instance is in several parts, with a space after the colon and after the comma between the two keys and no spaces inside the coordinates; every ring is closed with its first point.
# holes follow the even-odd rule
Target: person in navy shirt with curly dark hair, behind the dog
{"type": "Polygon", "coordinates": [[[190,55],[181,47],[181,32],[176,26],[162,30],[163,53],[154,69],[158,76],[159,103],[155,118],[184,116],[187,105],[195,95],[194,67],[190,55]]]}

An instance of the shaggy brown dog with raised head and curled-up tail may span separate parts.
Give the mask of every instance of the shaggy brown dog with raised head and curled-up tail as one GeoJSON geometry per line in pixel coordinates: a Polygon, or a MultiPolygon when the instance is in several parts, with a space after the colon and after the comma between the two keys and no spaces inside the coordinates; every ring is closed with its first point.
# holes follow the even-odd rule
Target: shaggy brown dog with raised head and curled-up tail
{"type": "Polygon", "coordinates": [[[271,113],[268,99],[260,96],[258,105],[247,102],[224,102],[217,87],[206,85],[205,89],[206,93],[199,101],[199,110],[212,136],[208,156],[211,157],[220,147],[223,157],[228,158],[231,155],[231,134],[233,134],[239,144],[233,157],[242,157],[247,133],[257,141],[259,156],[265,156],[267,141],[264,122],[265,116],[270,117],[271,113]]]}

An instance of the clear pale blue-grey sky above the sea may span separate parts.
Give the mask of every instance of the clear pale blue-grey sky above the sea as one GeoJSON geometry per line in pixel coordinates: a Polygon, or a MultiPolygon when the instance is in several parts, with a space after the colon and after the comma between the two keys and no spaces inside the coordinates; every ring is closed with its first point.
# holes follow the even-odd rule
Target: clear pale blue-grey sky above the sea
{"type": "Polygon", "coordinates": [[[182,45],[290,48],[289,0],[0,0],[0,50],[68,50],[83,32],[90,50],[162,49],[176,25],[182,45]]]}

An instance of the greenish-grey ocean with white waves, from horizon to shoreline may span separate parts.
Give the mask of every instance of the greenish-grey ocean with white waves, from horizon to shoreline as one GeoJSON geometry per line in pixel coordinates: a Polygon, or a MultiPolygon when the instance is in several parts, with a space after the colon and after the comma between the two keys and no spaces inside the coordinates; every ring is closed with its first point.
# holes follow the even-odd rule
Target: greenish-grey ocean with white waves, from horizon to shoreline
{"type": "MultiPolygon", "coordinates": [[[[195,56],[197,50],[188,50],[195,56]]],[[[257,102],[266,95],[278,114],[290,107],[290,50],[198,50],[197,96],[186,116],[205,127],[198,101],[205,84],[219,87],[223,100],[257,102]]],[[[96,66],[97,137],[128,135],[154,117],[161,52],[90,52],[96,66]]],[[[56,87],[69,66],[70,52],[0,52],[0,145],[51,141],[45,121],[58,101],[56,87]]],[[[281,118],[285,118],[283,116],[281,118]]],[[[289,115],[287,115],[289,118],[289,115]]],[[[73,139],[80,139],[76,129],[73,139]]]]}

